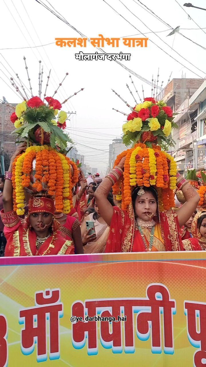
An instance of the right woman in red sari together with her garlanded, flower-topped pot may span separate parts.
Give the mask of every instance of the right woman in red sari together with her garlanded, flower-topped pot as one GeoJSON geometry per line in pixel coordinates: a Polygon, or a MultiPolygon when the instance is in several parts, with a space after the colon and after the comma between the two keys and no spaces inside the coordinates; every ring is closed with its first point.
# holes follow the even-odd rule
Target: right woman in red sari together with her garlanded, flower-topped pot
{"type": "Polygon", "coordinates": [[[177,173],[173,157],[161,149],[173,143],[171,108],[145,98],[127,120],[123,142],[135,143],[134,148],[117,156],[114,169],[95,191],[96,204],[110,226],[105,252],[201,250],[198,243],[184,245],[180,235],[180,227],[198,206],[199,195],[177,173]],[[121,208],[107,200],[112,186],[121,208]],[[176,186],[186,202],[174,212],[176,186]]]}

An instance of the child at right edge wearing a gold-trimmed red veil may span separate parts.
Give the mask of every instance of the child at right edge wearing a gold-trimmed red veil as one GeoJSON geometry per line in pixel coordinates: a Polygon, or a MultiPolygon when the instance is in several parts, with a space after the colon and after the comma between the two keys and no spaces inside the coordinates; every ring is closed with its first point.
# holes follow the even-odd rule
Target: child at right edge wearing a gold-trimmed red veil
{"type": "Polygon", "coordinates": [[[201,250],[206,251],[206,210],[202,209],[195,215],[191,232],[193,238],[185,239],[183,243],[185,245],[200,246],[201,250]]]}

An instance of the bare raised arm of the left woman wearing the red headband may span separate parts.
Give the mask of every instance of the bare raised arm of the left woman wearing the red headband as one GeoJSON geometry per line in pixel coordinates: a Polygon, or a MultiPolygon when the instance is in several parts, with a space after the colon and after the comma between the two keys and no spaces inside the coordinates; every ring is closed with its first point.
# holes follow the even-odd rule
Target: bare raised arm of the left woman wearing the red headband
{"type": "MultiPolygon", "coordinates": [[[[12,172],[12,164],[14,162],[14,159],[21,154],[26,149],[26,142],[19,145],[16,148],[16,151],[14,155],[11,157],[10,166],[8,168],[7,172],[12,172]]],[[[8,179],[5,177],[5,183],[4,183],[4,190],[3,190],[3,206],[4,206],[4,213],[8,213],[13,210],[13,198],[12,198],[12,182],[9,176],[11,176],[9,173],[5,175],[8,177],[8,179]]]]}

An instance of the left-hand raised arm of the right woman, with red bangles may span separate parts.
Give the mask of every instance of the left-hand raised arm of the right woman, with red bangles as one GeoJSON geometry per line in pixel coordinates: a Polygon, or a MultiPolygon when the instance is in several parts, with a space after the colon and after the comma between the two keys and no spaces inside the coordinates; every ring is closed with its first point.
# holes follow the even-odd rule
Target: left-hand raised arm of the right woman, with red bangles
{"type": "Polygon", "coordinates": [[[111,224],[113,217],[114,208],[107,200],[108,193],[115,182],[121,178],[124,170],[125,157],[121,159],[117,168],[114,168],[100,183],[95,191],[95,201],[101,213],[101,217],[107,223],[108,226],[111,224]]]}

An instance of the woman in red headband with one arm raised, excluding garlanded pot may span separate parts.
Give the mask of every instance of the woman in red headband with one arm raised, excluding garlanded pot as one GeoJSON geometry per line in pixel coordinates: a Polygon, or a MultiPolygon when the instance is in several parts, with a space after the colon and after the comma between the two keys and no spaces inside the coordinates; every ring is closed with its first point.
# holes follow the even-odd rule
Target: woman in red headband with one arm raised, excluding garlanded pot
{"type": "Polygon", "coordinates": [[[36,256],[74,254],[72,241],[63,238],[58,232],[54,218],[54,200],[47,196],[33,196],[28,203],[28,217],[21,222],[13,210],[12,199],[12,162],[26,149],[22,144],[11,158],[5,172],[3,207],[0,215],[7,239],[5,256],[36,256]]]}

